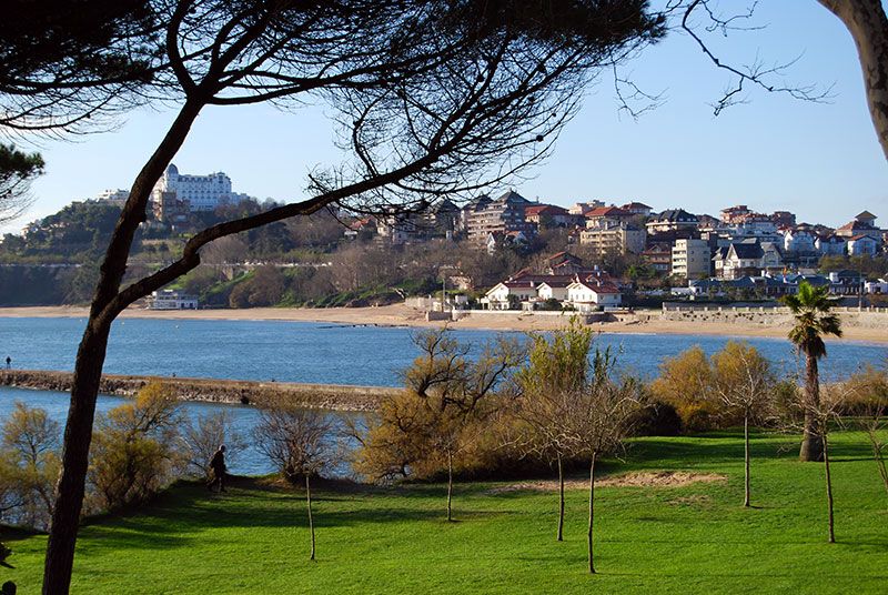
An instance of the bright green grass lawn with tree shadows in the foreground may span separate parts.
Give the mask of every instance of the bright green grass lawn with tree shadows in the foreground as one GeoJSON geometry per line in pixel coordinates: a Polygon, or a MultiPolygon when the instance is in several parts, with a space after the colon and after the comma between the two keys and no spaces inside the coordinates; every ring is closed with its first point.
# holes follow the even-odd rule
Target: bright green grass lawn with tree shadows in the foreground
{"type": "MultiPolygon", "coordinates": [[[[303,493],[253,480],[221,496],[181,484],[138,514],[80,532],[74,593],[888,593],[888,496],[860,434],[835,434],[836,535],[827,543],[823,465],[754,442],[753,503],[743,502],[736,434],[635,441],[638,470],[716,472],[726,482],[602,487],[597,575],[586,573],[586,492],[567,494],[555,541],[554,493],[445,487],[320,487],[317,562],[309,561],[303,493]]],[[[313,491],[314,492],[314,491],[313,491]]],[[[19,593],[39,592],[44,536],[3,537],[19,593]]]]}

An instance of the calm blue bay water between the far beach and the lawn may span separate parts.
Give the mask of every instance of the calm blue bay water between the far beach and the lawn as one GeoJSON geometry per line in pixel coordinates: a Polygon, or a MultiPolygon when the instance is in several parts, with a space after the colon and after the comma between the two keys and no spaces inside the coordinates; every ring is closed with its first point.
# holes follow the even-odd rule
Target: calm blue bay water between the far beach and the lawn
{"type": "MultiPolygon", "coordinates": [[[[13,367],[70,371],[84,321],[78,319],[0,319],[0,360],[12,357],[13,367]]],[[[416,356],[411,337],[415,330],[349,326],[306,322],[125,320],[114,323],[104,370],[117,374],[155,374],[195,377],[262,380],[331,384],[395,386],[398,373],[416,356]]],[[[494,339],[490,331],[455,331],[461,341],[480,347],[494,339]]],[[[512,333],[518,339],[521,333],[512,333]]],[[[664,357],[692,345],[707,353],[722,349],[729,336],[601,335],[598,346],[620,351],[619,363],[633,374],[654,376],[664,357]]],[[[748,339],[776,365],[795,372],[798,359],[788,341],[748,339]]],[[[821,364],[825,377],[848,374],[866,363],[880,363],[885,345],[830,342],[821,364]]],[[[475,350],[477,351],[477,349],[475,350]]],[[[63,424],[68,395],[0,386],[0,423],[14,401],[49,411],[63,424]]],[[[124,400],[101,396],[104,412],[124,400]]],[[[185,412],[200,416],[228,409],[238,430],[250,436],[259,420],[251,407],[186,403],[185,412]]],[[[251,443],[248,440],[248,443],[251,443]]],[[[233,473],[271,472],[254,446],[230,465],[233,473]]]]}

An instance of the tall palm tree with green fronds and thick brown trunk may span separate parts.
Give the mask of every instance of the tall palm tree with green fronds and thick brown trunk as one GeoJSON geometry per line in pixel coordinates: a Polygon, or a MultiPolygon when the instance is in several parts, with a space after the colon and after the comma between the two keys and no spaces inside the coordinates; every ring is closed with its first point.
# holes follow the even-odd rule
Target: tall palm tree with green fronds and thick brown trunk
{"type": "Polygon", "coordinates": [[[826,355],[825,335],[841,336],[841,321],[830,314],[833,301],[827,286],[815,288],[807,281],[798,284],[797,295],[786,295],[783,302],[793,311],[796,324],[789,331],[789,341],[795,343],[799,353],[805,354],[805,435],[801,441],[799,460],[823,461],[824,441],[817,417],[814,415],[820,402],[820,377],[817,360],[826,355]]]}

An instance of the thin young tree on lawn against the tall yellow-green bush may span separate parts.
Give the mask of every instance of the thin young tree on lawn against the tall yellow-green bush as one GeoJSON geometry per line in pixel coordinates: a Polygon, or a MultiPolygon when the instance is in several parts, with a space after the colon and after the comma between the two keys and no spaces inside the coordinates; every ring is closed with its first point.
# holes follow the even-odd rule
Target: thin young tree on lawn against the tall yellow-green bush
{"type": "Polygon", "coordinates": [[[519,435],[511,440],[527,452],[555,461],[559,542],[564,541],[564,461],[574,454],[563,424],[569,400],[586,386],[592,342],[592,329],[576,317],[566,329],[532,334],[527,364],[516,377],[521,389],[515,407],[519,435]]]}

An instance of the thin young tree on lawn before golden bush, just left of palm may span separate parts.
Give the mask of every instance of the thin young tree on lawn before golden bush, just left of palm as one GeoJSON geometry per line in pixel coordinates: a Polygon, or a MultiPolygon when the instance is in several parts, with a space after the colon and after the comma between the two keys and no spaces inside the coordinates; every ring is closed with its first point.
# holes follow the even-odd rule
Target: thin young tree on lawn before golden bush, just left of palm
{"type": "Polygon", "coordinates": [[[750,506],[749,427],[770,416],[776,379],[770,362],[746,342],[728,341],[712,356],[713,391],[728,415],[743,416],[744,501],[750,506]]]}

